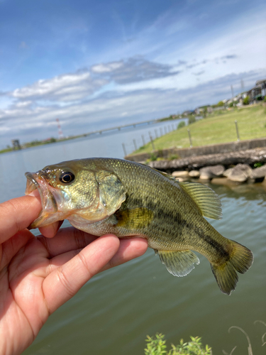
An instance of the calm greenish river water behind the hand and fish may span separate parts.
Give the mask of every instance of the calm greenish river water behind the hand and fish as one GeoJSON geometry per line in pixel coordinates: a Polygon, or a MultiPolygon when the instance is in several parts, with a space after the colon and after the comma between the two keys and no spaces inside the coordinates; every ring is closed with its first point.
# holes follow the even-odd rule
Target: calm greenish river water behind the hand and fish
{"type": "MultiPolygon", "coordinates": [[[[26,171],[35,171],[62,160],[106,156],[123,158],[133,151],[133,138],[142,145],[148,131],[160,135],[160,127],[142,126],[116,133],[38,146],[0,155],[0,202],[23,195],[26,171]]],[[[167,130],[166,129],[166,130],[167,130]]],[[[162,131],[162,130],[161,130],[162,131]]],[[[210,185],[221,198],[223,219],[209,222],[230,239],[248,246],[255,256],[252,268],[239,276],[231,296],[223,295],[209,262],[185,278],[175,278],[149,249],[144,256],[96,275],[72,300],[57,310],[23,354],[144,354],[145,338],[162,332],[170,344],[189,336],[200,336],[213,354],[248,355],[250,337],[253,354],[266,354],[262,335],[266,332],[265,212],[266,190],[261,184],[210,185]],[[260,320],[265,322],[254,322],[260,320]]],[[[65,223],[67,226],[67,223],[65,223]]],[[[265,339],[266,340],[266,339],[265,339]]],[[[170,349],[170,348],[169,348],[170,349]]]]}

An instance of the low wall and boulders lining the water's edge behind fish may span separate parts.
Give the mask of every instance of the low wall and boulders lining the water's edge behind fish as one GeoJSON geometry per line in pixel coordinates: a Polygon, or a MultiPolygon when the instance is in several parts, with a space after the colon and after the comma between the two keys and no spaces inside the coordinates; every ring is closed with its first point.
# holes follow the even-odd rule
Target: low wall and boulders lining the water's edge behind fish
{"type": "MultiPolygon", "coordinates": [[[[149,161],[148,165],[172,174],[180,182],[193,180],[215,185],[263,183],[263,187],[266,187],[266,138],[174,151],[168,149],[153,152],[153,155],[159,159],[149,161]],[[173,153],[179,158],[164,158],[173,153]]],[[[144,159],[148,156],[142,153],[125,158],[145,163],[144,159]]]]}

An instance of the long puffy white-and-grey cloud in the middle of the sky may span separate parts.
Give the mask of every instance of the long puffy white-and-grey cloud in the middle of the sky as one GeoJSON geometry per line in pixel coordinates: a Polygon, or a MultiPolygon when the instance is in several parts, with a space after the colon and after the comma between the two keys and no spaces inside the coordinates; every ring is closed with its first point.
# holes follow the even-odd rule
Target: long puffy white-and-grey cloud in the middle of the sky
{"type": "Polygon", "coordinates": [[[18,100],[74,102],[96,93],[111,82],[117,84],[143,82],[177,73],[178,71],[174,71],[170,65],[151,62],[138,56],[118,62],[93,65],[90,70],[38,80],[31,85],[9,92],[9,96],[18,100]]]}

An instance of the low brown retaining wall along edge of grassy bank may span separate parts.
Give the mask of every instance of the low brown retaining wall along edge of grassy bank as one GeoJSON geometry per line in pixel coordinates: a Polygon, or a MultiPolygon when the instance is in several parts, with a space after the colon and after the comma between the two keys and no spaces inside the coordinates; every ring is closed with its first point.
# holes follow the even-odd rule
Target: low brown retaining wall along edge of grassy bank
{"type": "MultiPolygon", "coordinates": [[[[155,151],[154,154],[160,158],[170,158],[171,155],[177,155],[178,158],[187,158],[189,156],[216,154],[216,153],[231,153],[235,151],[246,151],[253,148],[266,147],[266,138],[250,139],[249,141],[236,141],[231,143],[212,144],[210,146],[192,147],[192,148],[169,148],[162,151],[155,151]]],[[[143,162],[150,158],[150,153],[138,153],[126,155],[125,159],[143,162]]]]}

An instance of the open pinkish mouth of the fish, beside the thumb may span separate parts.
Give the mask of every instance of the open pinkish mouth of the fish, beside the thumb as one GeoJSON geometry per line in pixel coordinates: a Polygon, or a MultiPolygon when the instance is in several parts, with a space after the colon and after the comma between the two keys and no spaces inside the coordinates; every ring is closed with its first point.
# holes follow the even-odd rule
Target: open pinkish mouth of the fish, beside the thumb
{"type": "Polygon", "coordinates": [[[60,220],[60,213],[58,214],[58,203],[62,202],[62,198],[57,190],[48,184],[43,172],[38,173],[26,173],[27,185],[26,195],[30,195],[31,192],[38,190],[40,195],[40,202],[42,204],[42,211],[40,215],[28,229],[38,228],[40,226],[46,226],[53,222],[60,220]]]}

